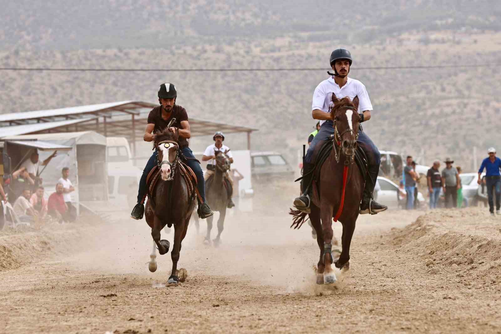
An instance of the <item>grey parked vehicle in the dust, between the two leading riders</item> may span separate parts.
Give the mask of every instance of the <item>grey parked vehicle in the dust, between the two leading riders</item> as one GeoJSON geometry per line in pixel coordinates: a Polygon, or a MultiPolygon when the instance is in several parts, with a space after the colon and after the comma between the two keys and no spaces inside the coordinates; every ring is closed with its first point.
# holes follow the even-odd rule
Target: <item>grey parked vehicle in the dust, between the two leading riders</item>
{"type": "Polygon", "coordinates": [[[294,169],[277,152],[250,152],[253,177],[261,176],[286,176],[294,177],[294,169]]]}

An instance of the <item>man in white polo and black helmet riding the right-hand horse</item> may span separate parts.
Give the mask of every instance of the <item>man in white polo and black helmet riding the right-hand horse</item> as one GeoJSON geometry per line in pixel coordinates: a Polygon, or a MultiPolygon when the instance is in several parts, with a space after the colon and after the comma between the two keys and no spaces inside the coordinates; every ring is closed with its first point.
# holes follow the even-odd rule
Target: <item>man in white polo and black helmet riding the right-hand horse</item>
{"type": "MultiPolygon", "coordinates": [[[[294,200],[294,206],[303,212],[309,212],[311,203],[311,182],[314,173],[310,173],[310,175],[307,175],[307,173],[314,167],[314,164],[311,163],[311,159],[315,151],[315,146],[320,141],[326,140],[330,135],[334,134],[334,124],[329,114],[329,108],[333,104],[332,93],[334,93],[338,99],[349,97],[352,101],[358,96],[360,101],[358,106],[360,123],[366,122],[371,118],[372,104],[365,86],[358,80],[348,78],[352,62],[353,60],[348,50],[344,48],[334,50],[330,58],[330,64],[334,73],[327,72],[331,77],[322,81],[313,93],[312,116],[314,119],[320,120],[321,126],[320,131],[315,138],[313,138],[308,153],[303,161],[303,175],[305,175],[303,187],[305,193],[294,200]]],[[[381,155],[369,136],[362,131],[361,126],[358,131],[357,143],[367,156],[368,172],[370,176],[365,182],[363,199],[360,204],[360,213],[375,214],[388,208],[386,205],[379,204],[372,199],[375,182],[379,173],[381,155]]]]}

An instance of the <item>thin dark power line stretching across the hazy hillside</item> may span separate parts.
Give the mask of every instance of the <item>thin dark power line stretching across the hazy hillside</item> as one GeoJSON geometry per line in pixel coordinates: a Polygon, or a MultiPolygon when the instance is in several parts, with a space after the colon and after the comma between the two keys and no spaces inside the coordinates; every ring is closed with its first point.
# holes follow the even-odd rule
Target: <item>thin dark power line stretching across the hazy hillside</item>
{"type": "MultiPolygon", "coordinates": [[[[352,70],[404,70],[404,69],[454,69],[479,67],[499,67],[500,64],[483,65],[435,65],[435,66],[375,66],[354,67],[352,70]]],[[[299,72],[299,71],[326,71],[328,68],[277,68],[277,69],[92,69],[92,68],[50,68],[50,67],[0,67],[0,71],[53,71],[53,72],[299,72]]]]}

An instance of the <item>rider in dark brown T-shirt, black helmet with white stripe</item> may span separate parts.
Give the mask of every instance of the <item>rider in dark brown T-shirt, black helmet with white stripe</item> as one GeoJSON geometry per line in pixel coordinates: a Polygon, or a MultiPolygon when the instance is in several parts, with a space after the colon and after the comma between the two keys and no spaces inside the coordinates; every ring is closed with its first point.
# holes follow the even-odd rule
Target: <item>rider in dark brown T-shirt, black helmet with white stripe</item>
{"type": "MultiPolygon", "coordinates": [[[[179,149],[180,152],[187,158],[186,164],[193,170],[197,179],[197,188],[202,197],[203,204],[198,203],[198,216],[203,219],[214,214],[212,210],[207,205],[205,201],[205,181],[203,179],[202,168],[200,163],[193,156],[193,152],[188,147],[188,138],[191,137],[190,127],[188,123],[188,114],[186,109],[181,106],[176,105],[177,92],[173,84],[165,83],[161,84],[158,89],[158,102],[159,106],[153,108],[148,115],[148,124],[144,131],[143,140],[145,142],[151,142],[154,139],[154,133],[157,131],[163,131],[169,124],[170,120],[175,118],[176,121],[172,124],[170,128],[171,131],[175,131],[176,128],[179,129],[179,149]],[[152,134],[153,132],[153,134],[152,134]]],[[[139,181],[139,191],[137,193],[137,204],[134,206],[130,216],[134,219],[143,218],[144,214],[144,204],[143,198],[146,195],[146,178],[149,172],[158,164],[157,161],[157,151],[154,150],[150,159],[144,167],[143,175],[139,181]]],[[[198,199],[198,196],[197,196],[198,199]]]]}

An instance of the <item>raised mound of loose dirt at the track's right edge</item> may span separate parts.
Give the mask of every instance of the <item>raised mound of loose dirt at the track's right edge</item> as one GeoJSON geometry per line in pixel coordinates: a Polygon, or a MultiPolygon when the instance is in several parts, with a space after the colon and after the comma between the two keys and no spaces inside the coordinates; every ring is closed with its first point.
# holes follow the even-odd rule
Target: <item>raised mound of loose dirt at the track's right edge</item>
{"type": "Polygon", "coordinates": [[[501,217],[485,208],[434,210],[391,234],[393,245],[421,258],[429,273],[501,277],[501,217]]]}

